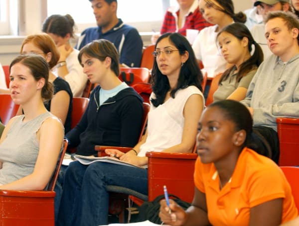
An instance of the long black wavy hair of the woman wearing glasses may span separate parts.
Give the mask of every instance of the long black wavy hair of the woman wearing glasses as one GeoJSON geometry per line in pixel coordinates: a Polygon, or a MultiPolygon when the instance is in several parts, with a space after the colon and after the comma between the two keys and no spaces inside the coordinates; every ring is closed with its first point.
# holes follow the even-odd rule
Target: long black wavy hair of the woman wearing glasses
{"type": "MultiPolygon", "coordinates": [[[[186,88],[190,85],[195,85],[200,89],[200,91],[202,91],[202,74],[196,61],[193,49],[188,40],[179,33],[166,33],[158,38],[155,44],[155,48],[157,44],[164,38],[169,38],[169,41],[179,50],[180,55],[185,54],[186,51],[189,53],[187,61],[180,69],[177,86],[170,91],[170,96],[174,98],[177,90],[186,88]]],[[[168,82],[168,78],[165,75],[162,75],[162,73],[158,69],[156,61],[153,62],[151,75],[152,91],[155,94],[156,98],[151,99],[150,101],[153,106],[157,107],[164,102],[166,93],[170,89],[170,85],[168,82]]]]}

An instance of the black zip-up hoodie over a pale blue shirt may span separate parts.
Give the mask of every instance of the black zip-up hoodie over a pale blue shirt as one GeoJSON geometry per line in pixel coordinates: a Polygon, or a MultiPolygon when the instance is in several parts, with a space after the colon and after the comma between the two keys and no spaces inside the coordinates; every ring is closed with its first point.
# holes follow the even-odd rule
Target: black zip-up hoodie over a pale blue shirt
{"type": "Polygon", "coordinates": [[[69,146],[77,147],[77,154],[96,155],[95,145],[134,147],[138,142],[142,97],[128,87],[99,106],[99,92],[100,86],[97,86],[80,122],[65,135],[69,146]]]}

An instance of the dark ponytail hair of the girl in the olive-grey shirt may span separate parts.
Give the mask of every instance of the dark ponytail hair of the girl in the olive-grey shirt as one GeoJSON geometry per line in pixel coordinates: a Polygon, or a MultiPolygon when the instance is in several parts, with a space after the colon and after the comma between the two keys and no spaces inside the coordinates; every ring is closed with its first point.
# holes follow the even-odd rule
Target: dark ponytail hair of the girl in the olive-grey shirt
{"type": "MultiPolygon", "coordinates": [[[[250,33],[250,31],[248,30],[248,28],[243,24],[243,23],[232,23],[226,27],[224,27],[218,34],[217,34],[217,38],[219,37],[219,35],[223,32],[227,32],[232,34],[233,36],[235,36],[237,39],[239,39],[240,41],[246,37],[248,38],[248,51],[249,53],[252,51],[252,45],[254,45],[254,53],[253,55],[245,62],[243,62],[240,65],[240,69],[237,72],[237,76],[236,76],[236,82],[238,83],[242,77],[244,77],[245,75],[247,75],[249,72],[251,72],[252,70],[257,69],[260,64],[263,62],[264,60],[264,54],[263,54],[263,50],[260,47],[260,45],[258,43],[255,42],[255,40],[252,37],[252,34],[250,33]]],[[[219,84],[226,80],[230,73],[234,70],[234,66],[232,66],[231,68],[227,69],[221,76],[221,78],[219,79],[219,84]]]]}

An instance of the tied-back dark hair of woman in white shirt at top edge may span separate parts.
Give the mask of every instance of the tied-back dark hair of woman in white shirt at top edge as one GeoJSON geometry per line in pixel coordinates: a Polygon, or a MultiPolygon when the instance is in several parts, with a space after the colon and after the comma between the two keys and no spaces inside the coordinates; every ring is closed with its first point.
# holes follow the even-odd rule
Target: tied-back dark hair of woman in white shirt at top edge
{"type": "Polygon", "coordinates": [[[246,22],[246,14],[243,13],[242,11],[235,13],[235,7],[234,3],[232,0],[215,0],[221,7],[218,5],[214,4],[213,1],[211,0],[205,0],[208,4],[210,4],[213,8],[224,12],[225,14],[229,15],[230,17],[233,18],[235,22],[241,22],[245,23],[246,22]]]}

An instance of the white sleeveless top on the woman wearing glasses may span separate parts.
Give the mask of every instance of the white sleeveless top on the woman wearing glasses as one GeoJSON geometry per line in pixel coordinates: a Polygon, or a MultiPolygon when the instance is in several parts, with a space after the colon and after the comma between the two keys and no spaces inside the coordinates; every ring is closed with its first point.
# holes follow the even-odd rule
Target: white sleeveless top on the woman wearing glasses
{"type": "MultiPolygon", "coordinates": [[[[193,94],[199,94],[204,103],[202,92],[194,85],[179,89],[175,98],[170,97],[157,107],[150,103],[148,137],[140,147],[138,156],[146,156],[147,151],[163,151],[181,143],[185,121],[183,110],[187,99],[193,94]]],[[[151,98],[155,98],[154,93],[151,93],[151,98]]]]}

